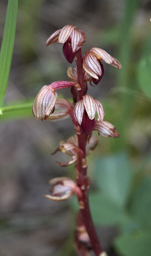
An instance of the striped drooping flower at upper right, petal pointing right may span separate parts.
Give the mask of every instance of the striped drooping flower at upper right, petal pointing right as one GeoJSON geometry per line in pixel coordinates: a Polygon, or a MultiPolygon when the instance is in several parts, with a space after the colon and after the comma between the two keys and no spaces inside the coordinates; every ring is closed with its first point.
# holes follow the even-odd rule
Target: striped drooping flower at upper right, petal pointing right
{"type": "Polygon", "coordinates": [[[92,81],[95,84],[98,84],[98,82],[101,80],[104,73],[104,69],[101,61],[104,61],[107,64],[117,67],[118,69],[122,68],[120,62],[117,59],[110,56],[110,54],[105,52],[105,50],[102,50],[97,47],[91,48],[83,56],[83,69],[90,76],[92,76],[92,81]]]}

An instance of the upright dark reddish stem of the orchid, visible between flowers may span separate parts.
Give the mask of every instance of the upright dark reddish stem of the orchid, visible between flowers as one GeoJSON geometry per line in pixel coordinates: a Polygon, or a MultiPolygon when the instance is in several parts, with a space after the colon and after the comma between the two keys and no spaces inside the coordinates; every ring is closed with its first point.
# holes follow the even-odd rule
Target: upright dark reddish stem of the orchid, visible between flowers
{"type": "MultiPolygon", "coordinates": [[[[83,67],[82,67],[81,48],[77,51],[75,59],[77,63],[77,82],[80,84],[81,89],[83,89],[84,73],[83,73],[83,67]]],[[[79,94],[79,98],[81,99],[82,95],[79,94]]],[[[87,134],[81,132],[80,134],[77,134],[77,137],[78,137],[78,146],[81,150],[83,150],[83,153],[86,156],[87,134]]],[[[92,248],[96,256],[99,256],[102,252],[102,249],[99,244],[98,236],[96,234],[94,224],[90,214],[90,208],[88,203],[87,167],[82,166],[82,159],[80,158],[80,156],[76,161],[76,170],[77,170],[77,186],[79,186],[83,192],[84,209],[81,209],[81,213],[83,216],[83,223],[85,224],[88,235],[90,237],[92,248]]]]}

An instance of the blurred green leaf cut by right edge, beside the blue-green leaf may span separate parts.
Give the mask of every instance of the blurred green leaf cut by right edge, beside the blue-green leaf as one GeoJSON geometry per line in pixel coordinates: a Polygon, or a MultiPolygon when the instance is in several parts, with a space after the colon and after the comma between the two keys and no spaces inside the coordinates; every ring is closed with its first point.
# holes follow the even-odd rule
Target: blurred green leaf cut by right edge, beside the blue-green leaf
{"type": "Polygon", "coordinates": [[[151,177],[145,178],[132,199],[130,213],[147,228],[151,228],[151,177]]]}

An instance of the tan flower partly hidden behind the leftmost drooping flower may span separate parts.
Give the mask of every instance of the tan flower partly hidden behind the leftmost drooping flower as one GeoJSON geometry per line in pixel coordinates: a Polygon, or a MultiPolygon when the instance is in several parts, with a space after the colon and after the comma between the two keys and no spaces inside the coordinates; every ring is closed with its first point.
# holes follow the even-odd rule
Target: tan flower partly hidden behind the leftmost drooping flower
{"type": "Polygon", "coordinates": [[[74,108],[74,104],[64,98],[59,98],[55,102],[55,111],[47,118],[48,121],[57,121],[69,118],[70,109],[74,108]],[[56,111],[57,110],[57,111],[56,111]]]}

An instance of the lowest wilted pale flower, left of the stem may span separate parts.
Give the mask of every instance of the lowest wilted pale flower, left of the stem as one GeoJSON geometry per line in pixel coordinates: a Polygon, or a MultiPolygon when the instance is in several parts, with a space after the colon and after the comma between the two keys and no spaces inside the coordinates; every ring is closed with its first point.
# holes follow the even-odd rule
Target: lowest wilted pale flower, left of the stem
{"type": "Polygon", "coordinates": [[[53,201],[63,201],[72,197],[77,187],[76,183],[67,177],[54,178],[50,180],[50,184],[52,195],[45,195],[45,197],[53,201]]]}

